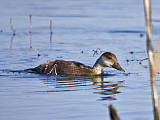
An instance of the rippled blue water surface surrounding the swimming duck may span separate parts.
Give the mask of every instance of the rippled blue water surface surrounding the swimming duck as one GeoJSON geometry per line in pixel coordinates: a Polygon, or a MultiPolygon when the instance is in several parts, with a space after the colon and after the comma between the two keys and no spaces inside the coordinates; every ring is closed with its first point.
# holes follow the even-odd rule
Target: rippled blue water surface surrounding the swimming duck
{"type": "MultiPolygon", "coordinates": [[[[159,4],[152,1],[154,43],[159,4]]],[[[139,64],[147,57],[143,1],[5,0],[0,9],[1,120],[106,120],[110,104],[123,120],[153,119],[148,61],[139,64]],[[29,14],[32,47],[40,57],[29,48],[29,14]],[[115,53],[126,73],[105,69],[109,76],[93,78],[9,72],[55,59],[92,66],[100,56],[93,56],[97,48],[115,53]]]]}

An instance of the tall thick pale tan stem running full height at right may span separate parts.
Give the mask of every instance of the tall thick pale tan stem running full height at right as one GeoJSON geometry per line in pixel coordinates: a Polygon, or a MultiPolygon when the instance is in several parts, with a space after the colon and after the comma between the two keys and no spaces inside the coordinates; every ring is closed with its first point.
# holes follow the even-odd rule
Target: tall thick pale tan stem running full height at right
{"type": "Polygon", "coordinates": [[[152,26],[151,26],[151,2],[150,0],[144,0],[145,7],[145,20],[146,20],[146,30],[147,30],[147,53],[149,56],[149,65],[150,65],[150,77],[152,85],[152,101],[154,109],[154,119],[159,120],[158,112],[158,95],[156,88],[156,72],[157,66],[155,64],[155,55],[152,48],[152,26]]]}

